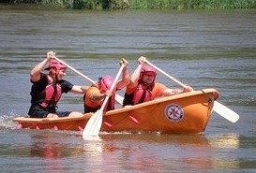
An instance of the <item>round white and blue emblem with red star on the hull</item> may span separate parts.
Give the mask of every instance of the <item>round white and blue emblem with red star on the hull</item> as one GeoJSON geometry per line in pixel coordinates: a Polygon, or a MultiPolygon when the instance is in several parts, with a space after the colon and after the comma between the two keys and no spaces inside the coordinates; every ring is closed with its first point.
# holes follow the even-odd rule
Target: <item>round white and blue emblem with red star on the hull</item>
{"type": "Polygon", "coordinates": [[[179,105],[171,104],[165,108],[165,116],[173,122],[179,122],[183,115],[183,109],[179,105]]]}

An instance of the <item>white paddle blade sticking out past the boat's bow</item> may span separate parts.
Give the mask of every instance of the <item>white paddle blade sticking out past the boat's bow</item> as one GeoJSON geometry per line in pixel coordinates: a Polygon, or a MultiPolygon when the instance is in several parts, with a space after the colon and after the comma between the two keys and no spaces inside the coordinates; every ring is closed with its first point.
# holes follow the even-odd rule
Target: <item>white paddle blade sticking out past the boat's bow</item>
{"type": "Polygon", "coordinates": [[[214,101],[213,110],[217,112],[218,115],[222,116],[223,118],[227,119],[232,123],[236,123],[239,119],[239,115],[237,113],[235,113],[232,109],[218,103],[217,101],[214,101]]]}

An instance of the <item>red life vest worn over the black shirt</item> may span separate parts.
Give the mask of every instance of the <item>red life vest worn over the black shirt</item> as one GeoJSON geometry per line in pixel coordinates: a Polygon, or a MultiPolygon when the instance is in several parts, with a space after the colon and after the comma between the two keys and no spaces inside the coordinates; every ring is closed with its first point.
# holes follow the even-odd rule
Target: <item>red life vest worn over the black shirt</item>
{"type": "Polygon", "coordinates": [[[55,108],[59,101],[62,91],[60,83],[53,83],[48,79],[48,85],[45,90],[44,101],[40,104],[43,108],[55,108]]]}

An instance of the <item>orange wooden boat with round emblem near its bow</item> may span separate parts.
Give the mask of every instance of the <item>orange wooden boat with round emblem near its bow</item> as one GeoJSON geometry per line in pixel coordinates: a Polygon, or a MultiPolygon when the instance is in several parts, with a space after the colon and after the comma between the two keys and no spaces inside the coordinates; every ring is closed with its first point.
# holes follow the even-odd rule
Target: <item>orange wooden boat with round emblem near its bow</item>
{"type": "MultiPolygon", "coordinates": [[[[104,113],[101,132],[202,134],[213,110],[218,91],[205,89],[159,98],[136,106],[104,113]]],[[[83,117],[26,118],[13,121],[18,128],[82,131],[92,113],[83,117]]]]}

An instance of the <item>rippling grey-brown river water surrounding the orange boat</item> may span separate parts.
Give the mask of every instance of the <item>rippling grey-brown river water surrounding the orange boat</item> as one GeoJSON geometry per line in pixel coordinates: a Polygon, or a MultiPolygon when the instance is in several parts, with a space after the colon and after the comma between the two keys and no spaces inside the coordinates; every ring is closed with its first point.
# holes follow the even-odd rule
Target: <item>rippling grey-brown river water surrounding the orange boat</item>
{"type": "MultiPolygon", "coordinates": [[[[1,5],[1,172],[255,172],[255,16],[1,5]],[[217,89],[218,101],[240,119],[230,123],[213,112],[203,136],[120,133],[88,141],[81,132],[18,130],[11,120],[27,114],[29,72],[49,50],[91,79],[115,76],[123,57],[131,74],[146,56],[195,90],[217,89]]],[[[65,78],[90,84],[71,70],[65,78]]],[[[160,74],[157,80],[179,87],[160,74]]],[[[82,95],[63,95],[59,109],[83,111],[82,95]]]]}

